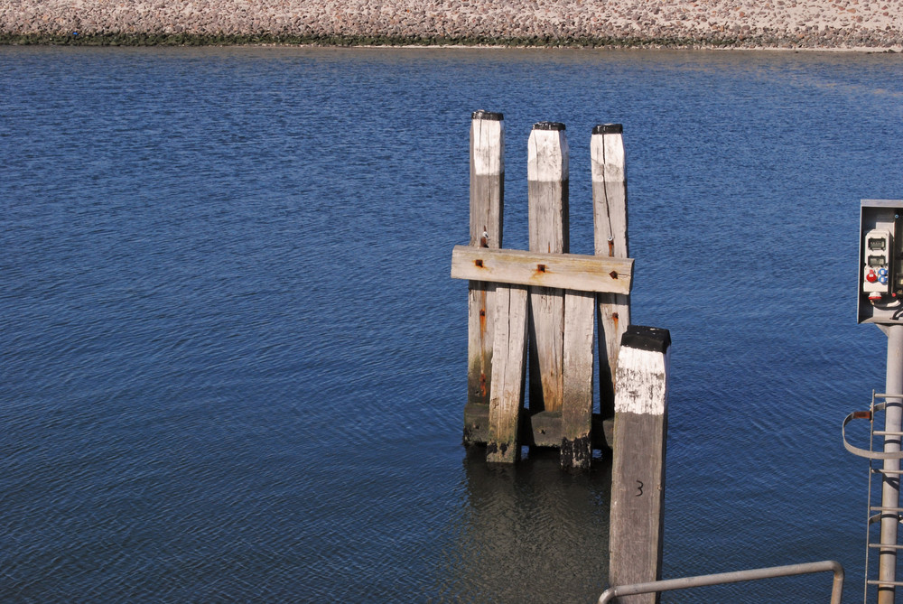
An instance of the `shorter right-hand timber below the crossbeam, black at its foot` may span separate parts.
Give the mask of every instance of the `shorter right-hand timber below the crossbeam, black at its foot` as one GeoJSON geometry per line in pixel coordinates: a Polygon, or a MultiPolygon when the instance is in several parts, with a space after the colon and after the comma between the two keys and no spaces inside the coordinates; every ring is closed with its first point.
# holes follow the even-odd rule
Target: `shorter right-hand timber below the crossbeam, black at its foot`
{"type": "Polygon", "coordinates": [[[564,375],[561,465],[589,469],[592,460],[592,366],[596,296],[564,292],[564,375]]]}

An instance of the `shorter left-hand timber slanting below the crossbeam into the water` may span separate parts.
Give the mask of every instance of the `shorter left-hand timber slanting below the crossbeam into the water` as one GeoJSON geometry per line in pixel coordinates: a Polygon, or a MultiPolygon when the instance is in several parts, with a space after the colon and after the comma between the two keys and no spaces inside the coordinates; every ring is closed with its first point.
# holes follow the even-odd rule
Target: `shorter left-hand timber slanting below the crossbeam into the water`
{"type": "Polygon", "coordinates": [[[524,285],[496,287],[496,330],[492,348],[492,396],[486,460],[520,459],[518,431],[526,376],[526,299],[524,285]]]}

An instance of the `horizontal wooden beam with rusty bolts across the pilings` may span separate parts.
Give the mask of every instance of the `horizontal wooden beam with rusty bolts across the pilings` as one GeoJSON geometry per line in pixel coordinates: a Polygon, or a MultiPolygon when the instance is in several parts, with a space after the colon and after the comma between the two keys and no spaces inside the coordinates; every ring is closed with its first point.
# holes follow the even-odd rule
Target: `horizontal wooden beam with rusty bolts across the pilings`
{"type": "Polygon", "coordinates": [[[538,285],[576,292],[630,293],[633,258],[454,246],[452,279],[538,285]]]}

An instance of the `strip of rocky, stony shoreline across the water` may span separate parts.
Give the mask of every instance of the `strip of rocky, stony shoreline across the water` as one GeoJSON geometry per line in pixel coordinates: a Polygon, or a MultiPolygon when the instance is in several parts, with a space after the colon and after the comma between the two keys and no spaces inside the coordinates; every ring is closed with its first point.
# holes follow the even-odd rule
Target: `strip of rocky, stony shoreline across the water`
{"type": "Polygon", "coordinates": [[[0,43],[903,50],[903,0],[0,0],[0,43]]]}

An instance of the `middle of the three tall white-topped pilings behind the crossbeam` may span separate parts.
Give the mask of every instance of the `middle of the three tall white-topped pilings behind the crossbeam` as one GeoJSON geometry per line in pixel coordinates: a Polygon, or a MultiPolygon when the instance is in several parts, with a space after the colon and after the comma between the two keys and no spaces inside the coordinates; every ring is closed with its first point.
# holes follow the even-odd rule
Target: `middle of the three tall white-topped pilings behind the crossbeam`
{"type": "MultiPolygon", "coordinates": [[[[527,142],[530,251],[568,252],[569,150],[564,125],[540,122],[527,142]]],[[[530,413],[558,413],[563,401],[562,290],[530,288],[530,413]]]]}

